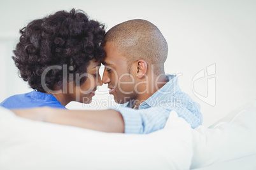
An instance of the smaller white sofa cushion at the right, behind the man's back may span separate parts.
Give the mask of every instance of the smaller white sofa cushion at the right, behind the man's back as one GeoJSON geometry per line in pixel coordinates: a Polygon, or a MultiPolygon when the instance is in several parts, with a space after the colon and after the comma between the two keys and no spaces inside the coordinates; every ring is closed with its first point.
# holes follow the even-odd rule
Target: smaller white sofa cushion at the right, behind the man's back
{"type": "MultiPolygon", "coordinates": [[[[256,154],[256,100],[239,107],[210,128],[193,130],[191,168],[207,167],[256,154]]],[[[256,161],[251,162],[256,168],[256,161]]]]}

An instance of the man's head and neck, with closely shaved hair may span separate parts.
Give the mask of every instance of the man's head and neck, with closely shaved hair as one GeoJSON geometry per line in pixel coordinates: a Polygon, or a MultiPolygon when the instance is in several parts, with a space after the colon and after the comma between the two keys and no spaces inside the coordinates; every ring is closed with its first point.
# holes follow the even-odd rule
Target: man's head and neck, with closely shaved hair
{"type": "Polygon", "coordinates": [[[152,23],[129,20],[116,25],[105,35],[104,49],[103,82],[109,84],[117,103],[135,100],[133,105],[138,108],[166,84],[164,62],[168,46],[152,23]]]}

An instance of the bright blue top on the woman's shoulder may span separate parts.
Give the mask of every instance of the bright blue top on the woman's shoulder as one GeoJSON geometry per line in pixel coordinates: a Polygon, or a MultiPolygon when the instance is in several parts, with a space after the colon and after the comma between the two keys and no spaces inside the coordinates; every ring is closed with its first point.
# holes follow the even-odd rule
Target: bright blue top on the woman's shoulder
{"type": "Polygon", "coordinates": [[[5,108],[32,108],[32,107],[55,107],[66,108],[61,105],[55,96],[41,93],[38,91],[31,91],[29,93],[10,96],[6,98],[0,106],[5,108]]]}

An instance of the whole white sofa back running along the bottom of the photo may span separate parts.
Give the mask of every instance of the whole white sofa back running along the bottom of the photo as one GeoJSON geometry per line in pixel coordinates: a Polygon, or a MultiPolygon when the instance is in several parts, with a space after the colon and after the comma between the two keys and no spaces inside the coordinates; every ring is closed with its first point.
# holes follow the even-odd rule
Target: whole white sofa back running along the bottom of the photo
{"type": "Polygon", "coordinates": [[[151,134],[36,122],[0,108],[0,169],[256,169],[256,100],[196,129],[176,112],[151,134]]]}

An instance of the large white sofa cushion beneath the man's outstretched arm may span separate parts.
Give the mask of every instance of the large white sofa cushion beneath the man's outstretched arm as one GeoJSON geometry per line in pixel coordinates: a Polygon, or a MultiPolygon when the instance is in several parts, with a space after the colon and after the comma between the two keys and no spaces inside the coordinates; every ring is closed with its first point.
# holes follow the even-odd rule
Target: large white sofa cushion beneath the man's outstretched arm
{"type": "Polygon", "coordinates": [[[171,112],[152,134],[101,133],[36,122],[0,108],[0,169],[189,169],[190,125],[171,112]]]}

